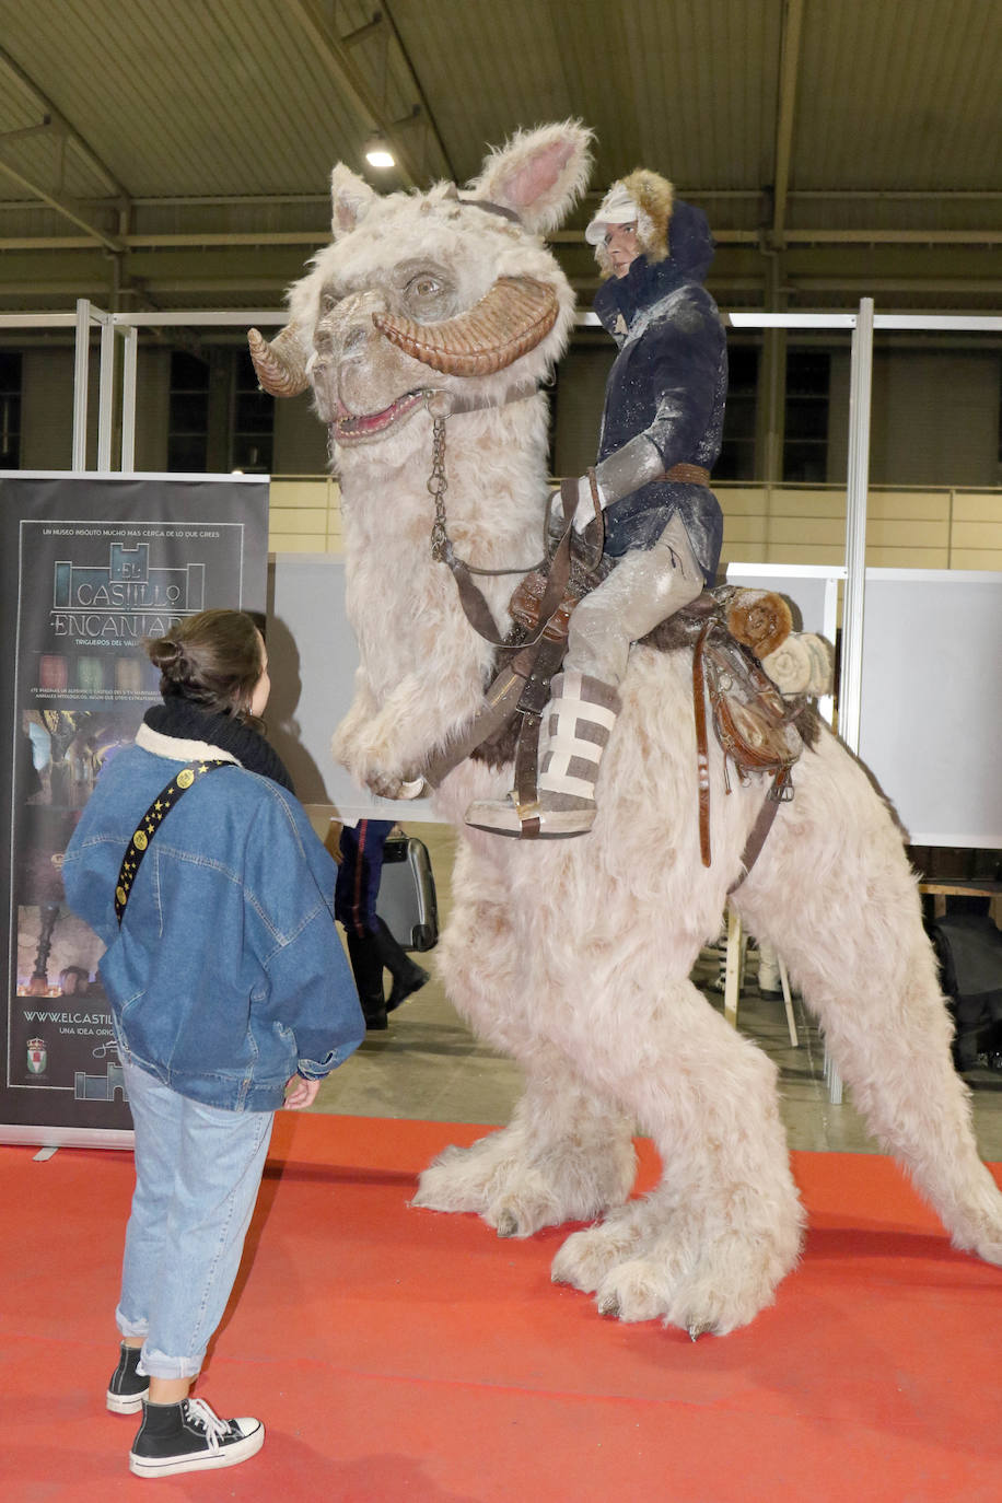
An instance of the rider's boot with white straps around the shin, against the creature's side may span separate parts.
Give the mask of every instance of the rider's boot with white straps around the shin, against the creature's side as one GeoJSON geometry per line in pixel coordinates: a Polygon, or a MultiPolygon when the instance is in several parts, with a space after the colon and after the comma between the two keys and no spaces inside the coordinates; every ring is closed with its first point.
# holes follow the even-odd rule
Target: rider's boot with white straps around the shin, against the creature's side
{"type": "Polygon", "coordinates": [[[544,715],[547,739],[538,800],[523,806],[481,798],[466,812],[467,825],[499,836],[584,836],[595,824],[595,783],[620,709],[619,693],[598,678],[566,669],[550,685],[544,715]]]}

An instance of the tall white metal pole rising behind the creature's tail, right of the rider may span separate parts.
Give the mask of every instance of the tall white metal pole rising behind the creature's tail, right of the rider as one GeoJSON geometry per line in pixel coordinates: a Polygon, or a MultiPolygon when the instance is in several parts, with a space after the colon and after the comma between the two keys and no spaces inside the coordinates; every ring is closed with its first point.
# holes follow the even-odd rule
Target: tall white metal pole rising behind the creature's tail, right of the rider
{"type": "Polygon", "coordinates": [[[841,618],[838,735],[859,750],[862,700],[862,606],[867,582],[867,493],[870,485],[870,395],[873,389],[873,298],[862,298],[852,332],[849,377],[849,481],[846,494],[846,595],[841,618]]]}

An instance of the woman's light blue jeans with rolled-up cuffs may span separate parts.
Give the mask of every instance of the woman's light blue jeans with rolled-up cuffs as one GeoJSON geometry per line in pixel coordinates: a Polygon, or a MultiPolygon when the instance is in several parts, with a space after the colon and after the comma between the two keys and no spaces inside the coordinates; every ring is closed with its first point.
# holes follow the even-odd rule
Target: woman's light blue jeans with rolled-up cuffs
{"type": "Polygon", "coordinates": [[[146,1338],[140,1372],[194,1378],[240,1266],[275,1114],[203,1106],[122,1069],[135,1192],[116,1318],[123,1336],[146,1338]]]}

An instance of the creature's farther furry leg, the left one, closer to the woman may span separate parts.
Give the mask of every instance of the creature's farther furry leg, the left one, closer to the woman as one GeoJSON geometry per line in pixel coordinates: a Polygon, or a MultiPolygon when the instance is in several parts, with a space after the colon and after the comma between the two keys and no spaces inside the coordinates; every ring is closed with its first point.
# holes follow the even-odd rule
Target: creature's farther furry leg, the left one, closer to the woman
{"type": "Polygon", "coordinates": [[[490,1043],[514,1055],[527,1085],[512,1121],[470,1148],[446,1148],[421,1175],[413,1205],[476,1211],[502,1237],[590,1220],[634,1181],[632,1123],[538,1036],[547,999],[527,971],[511,893],[460,846],[455,906],[439,969],[449,995],[490,1043]]]}

